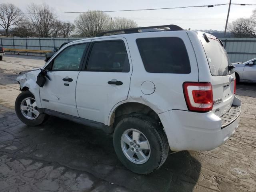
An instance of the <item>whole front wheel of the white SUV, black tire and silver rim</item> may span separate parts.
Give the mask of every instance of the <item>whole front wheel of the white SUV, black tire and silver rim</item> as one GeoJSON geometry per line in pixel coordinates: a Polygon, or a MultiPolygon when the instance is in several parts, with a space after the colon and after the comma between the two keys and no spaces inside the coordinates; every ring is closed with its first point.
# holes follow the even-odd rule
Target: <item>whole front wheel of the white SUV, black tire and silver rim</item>
{"type": "Polygon", "coordinates": [[[15,101],[18,118],[27,125],[37,126],[44,122],[46,114],[38,111],[34,95],[30,91],[21,92],[15,101]]]}

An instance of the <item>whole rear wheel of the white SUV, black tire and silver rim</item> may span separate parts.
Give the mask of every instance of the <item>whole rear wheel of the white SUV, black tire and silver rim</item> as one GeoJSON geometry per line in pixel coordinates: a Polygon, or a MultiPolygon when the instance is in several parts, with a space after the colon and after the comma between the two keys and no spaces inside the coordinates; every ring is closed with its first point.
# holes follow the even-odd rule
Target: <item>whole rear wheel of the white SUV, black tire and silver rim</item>
{"type": "Polygon", "coordinates": [[[114,149],[119,160],[132,172],[150,174],[165,162],[169,145],[166,134],[147,116],[125,117],[114,130],[114,149]]]}

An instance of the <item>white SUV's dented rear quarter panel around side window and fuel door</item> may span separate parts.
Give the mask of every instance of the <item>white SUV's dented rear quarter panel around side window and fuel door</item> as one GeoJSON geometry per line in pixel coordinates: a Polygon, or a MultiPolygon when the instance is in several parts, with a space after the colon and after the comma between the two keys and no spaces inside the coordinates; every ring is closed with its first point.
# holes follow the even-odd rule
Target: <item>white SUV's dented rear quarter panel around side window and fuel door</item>
{"type": "MultiPolygon", "coordinates": [[[[198,81],[198,66],[196,56],[192,44],[188,38],[186,31],[170,31],[155,33],[150,32],[147,38],[154,37],[178,37],[181,38],[186,46],[188,56],[190,59],[190,74],[170,74],[170,73],[149,73],[145,70],[142,62],[136,39],[140,38],[138,34],[126,35],[131,58],[133,72],[130,81],[130,90],[128,98],[125,101],[116,104],[110,112],[108,118],[108,125],[110,118],[115,109],[126,102],[138,102],[150,107],[157,114],[172,110],[188,110],[183,93],[183,82],[198,81]],[[146,95],[141,91],[141,85],[145,81],[151,81],[155,85],[155,91],[152,94],[146,95]]],[[[141,37],[143,38],[143,36],[141,37]]]]}

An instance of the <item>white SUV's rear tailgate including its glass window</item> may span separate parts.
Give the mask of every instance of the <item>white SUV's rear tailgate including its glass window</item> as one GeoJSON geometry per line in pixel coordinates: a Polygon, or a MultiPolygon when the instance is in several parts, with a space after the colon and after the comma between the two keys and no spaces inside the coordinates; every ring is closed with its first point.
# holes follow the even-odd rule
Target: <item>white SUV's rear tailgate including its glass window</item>
{"type": "Polygon", "coordinates": [[[232,64],[220,40],[205,33],[199,37],[210,69],[208,81],[211,82],[213,91],[212,110],[220,117],[230,109],[234,100],[234,70],[230,67],[232,64]]]}

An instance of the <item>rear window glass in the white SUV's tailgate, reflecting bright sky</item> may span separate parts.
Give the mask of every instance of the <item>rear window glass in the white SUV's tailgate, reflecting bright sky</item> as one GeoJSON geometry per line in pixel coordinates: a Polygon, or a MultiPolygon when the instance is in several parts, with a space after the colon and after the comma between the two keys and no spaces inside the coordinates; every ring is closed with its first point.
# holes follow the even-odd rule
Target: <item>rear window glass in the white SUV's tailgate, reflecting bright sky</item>
{"type": "Polygon", "coordinates": [[[232,65],[226,50],[220,44],[216,37],[207,34],[209,42],[206,42],[204,37],[200,37],[204,51],[210,67],[212,76],[226,76],[234,73],[234,70],[229,70],[228,66],[232,65]]]}

